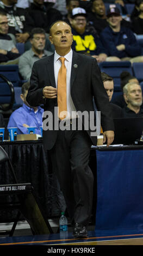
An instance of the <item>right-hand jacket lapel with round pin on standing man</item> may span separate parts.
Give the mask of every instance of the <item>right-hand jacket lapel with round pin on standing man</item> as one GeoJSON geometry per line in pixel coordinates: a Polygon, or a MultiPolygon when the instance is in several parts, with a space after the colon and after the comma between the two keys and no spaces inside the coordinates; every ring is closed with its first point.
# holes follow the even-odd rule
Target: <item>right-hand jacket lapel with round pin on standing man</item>
{"type": "Polygon", "coordinates": [[[78,54],[73,51],[72,56],[72,68],[71,68],[71,88],[73,86],[74,79],[76,78],[78,72],[79,58],[78,54]]]}

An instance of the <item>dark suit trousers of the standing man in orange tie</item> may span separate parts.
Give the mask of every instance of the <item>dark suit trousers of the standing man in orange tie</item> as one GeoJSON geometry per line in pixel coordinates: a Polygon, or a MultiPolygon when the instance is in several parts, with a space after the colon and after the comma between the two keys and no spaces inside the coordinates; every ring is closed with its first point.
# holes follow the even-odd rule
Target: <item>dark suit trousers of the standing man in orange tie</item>
{"type": "Polygon", "coordinates": [[[57,141],[49,150],[69,216],[72,222],[84,225],[88,225],[91,217],[94,185],[88,165],[90,147],[91,139],[86,131],[59,130],[57,141]]]}

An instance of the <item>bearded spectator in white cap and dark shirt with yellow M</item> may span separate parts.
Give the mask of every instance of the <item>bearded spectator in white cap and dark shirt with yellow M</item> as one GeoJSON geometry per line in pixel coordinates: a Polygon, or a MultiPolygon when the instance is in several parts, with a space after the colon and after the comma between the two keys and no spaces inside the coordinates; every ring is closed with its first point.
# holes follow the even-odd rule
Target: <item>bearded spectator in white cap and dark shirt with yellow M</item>
{"type": "Polygon", "coordinates": [[[86,11],[83,8],[74,8],[72,10],[72,50],[88,54],[95,57],[98,62],[103,62],[107,58],[107,51],[103,47],[100,39],[86,29],[86,11]]]}

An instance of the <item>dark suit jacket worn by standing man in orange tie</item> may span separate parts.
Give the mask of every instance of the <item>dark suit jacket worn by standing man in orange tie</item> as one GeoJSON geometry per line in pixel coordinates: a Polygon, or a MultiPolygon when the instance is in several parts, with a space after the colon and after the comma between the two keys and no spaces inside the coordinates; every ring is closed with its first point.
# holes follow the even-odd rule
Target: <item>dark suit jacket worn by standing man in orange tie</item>
{"type": "MultiPolygon", "coordinates": [[[[54,54],[38,60],[33,65],[30,77],[30,88],[27,102],[31,106],[44,105],[45,111],[53,114],[54,107],[58,106],[57,99],[43,99],[42,90],[45,86],[55,86],[54,54]]],[[[96,59],[73,52],[71,69],[71,97],[77,111],[94,112],[93,96],[98,111],[101,111],[101,125],[103,131],[114,130],[110,102],[101,81],[100,69],[96,59]],[[74,64],[77,64],[76,67],[74,64]]],[[[96,117],[94,117],[96,124],[96,117]]],[[[84,124],[84,120],[83,120],[84,124]]],[[[89,136],[91,129],[87,131],[89,136]]],[[[52,149],[57,138],[57,130],[43,130],[43,144],[45,149],[52,149]]],[[[97,137],[91,137],[92,143],[97,143],[97,137]]]]}

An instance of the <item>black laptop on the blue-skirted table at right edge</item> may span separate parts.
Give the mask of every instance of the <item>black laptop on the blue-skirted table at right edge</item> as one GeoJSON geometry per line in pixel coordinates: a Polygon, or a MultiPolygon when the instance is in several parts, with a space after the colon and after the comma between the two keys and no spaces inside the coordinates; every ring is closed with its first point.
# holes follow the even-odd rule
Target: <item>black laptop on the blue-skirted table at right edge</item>
{"type": "Polygon", "coordinates": [[[143,131],[143,118],[114,118],[115,137],[112,144],[134,144],[143,131]]]}

